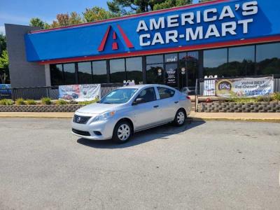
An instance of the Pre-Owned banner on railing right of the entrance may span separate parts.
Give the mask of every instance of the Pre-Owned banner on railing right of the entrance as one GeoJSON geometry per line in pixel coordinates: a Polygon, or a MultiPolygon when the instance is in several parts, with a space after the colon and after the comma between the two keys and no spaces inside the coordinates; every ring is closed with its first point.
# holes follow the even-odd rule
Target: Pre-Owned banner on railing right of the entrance
{"type": "Polygon", "coordinates": [[[273,77],[217,79],[216,95],[219,97],[258,97],[273,93],[273,77]]]}

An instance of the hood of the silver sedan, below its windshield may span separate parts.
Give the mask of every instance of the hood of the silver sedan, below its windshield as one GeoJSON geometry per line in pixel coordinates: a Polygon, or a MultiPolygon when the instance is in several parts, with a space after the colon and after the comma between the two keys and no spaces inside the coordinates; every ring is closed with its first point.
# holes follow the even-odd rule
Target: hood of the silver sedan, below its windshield
{"type": "Polygon", "coordinates": [[[76,113],[89,113],[89,114],[101,114],[106,111],[114,111],[120,104],[99,104],[94,103],[87,106],[83,106],[78,109],[76,113]]]}

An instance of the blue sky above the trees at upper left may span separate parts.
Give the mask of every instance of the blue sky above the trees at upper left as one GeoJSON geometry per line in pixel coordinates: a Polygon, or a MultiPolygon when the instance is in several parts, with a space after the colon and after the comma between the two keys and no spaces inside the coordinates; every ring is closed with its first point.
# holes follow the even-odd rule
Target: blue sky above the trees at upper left
{"type": "MultiPolygon", "coordinates": [[[[0,0],[0,34],[5,34],[4,23],[29,25],[31,18],[51,23],[58,13],[82,13],[85,8],[107,8],[108,0],[0,0]]],[[[194,0],[197,3],[198,0],[194,0]]]]}

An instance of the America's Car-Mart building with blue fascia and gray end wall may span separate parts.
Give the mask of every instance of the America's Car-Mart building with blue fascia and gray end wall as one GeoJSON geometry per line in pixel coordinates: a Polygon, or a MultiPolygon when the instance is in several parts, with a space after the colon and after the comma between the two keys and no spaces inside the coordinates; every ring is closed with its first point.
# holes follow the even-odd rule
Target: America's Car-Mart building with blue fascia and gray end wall
{"type": "Polygon", "coordinates": [[[217,0],[54,29],[6,24],[12,87],[280,74],[280,1],[217,0]]]}

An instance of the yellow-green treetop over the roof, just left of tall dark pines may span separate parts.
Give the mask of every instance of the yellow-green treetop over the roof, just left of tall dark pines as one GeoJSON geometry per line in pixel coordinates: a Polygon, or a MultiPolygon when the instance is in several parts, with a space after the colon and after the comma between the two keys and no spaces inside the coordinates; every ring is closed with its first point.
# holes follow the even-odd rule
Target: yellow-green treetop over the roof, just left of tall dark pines
{"type": "Polygon", "coordinates": [[[92,8],[85,8],[83,12],[83,19],[85,22],[93,22],[96,20],[105,20],[109,18],[116,18],[120,16],[119,13],[111,13],[104,8],[94,6],[92,8]]]}

